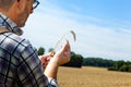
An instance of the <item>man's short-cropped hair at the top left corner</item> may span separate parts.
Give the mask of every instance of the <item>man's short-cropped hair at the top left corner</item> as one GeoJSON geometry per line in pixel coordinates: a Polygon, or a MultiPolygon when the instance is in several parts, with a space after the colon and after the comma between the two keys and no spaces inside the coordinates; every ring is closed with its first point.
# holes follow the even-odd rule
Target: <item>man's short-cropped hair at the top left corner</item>
{"type": "Polygon", "coordinates": [[[0,9],[8,11],[15,0],[0,0],[0,9]]]}

